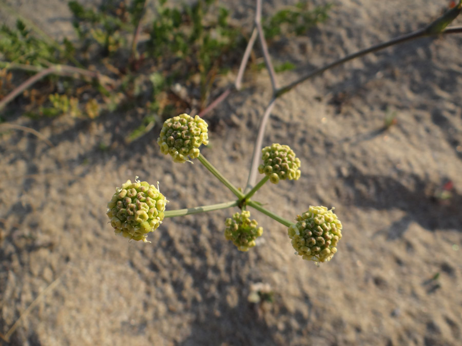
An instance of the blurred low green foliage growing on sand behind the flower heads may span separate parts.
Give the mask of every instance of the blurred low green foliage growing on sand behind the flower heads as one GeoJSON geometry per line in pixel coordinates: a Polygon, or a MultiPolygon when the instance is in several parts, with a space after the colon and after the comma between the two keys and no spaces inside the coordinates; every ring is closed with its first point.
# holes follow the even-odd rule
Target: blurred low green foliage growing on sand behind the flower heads
{"type": "MultiPolygon", "coordinates": [[[[34,98],[23,97],[24,114],[34,118],[92,119],[105,112],[148,109],[126,135],[127,142],[184,107],[203,111],[218,80],[235,67],[248,37],[216,0],[180,7],[159,1],[151,22],[143,17],[145,0],[108,0],[98,7],[70,1],[69,9],[76,42],[64,38],[57,43],[20,16],[15,28],[0,28],[0,68],[13,71],[14,80],[27,78],[16,88],[0,85],[0,109],[26,96],[24,91],[35,83],[44,95],[28,92],[34,98]],[[83,93],[86,101],[81,100],[83,93]]],[[[294,25],[302,22],[298,18],[294,25]]],[[[297,31],[294,25],[285,23],[284,30],[297,31]]],[[[292,68],[284,63],[277,70],[292,68]]]]}

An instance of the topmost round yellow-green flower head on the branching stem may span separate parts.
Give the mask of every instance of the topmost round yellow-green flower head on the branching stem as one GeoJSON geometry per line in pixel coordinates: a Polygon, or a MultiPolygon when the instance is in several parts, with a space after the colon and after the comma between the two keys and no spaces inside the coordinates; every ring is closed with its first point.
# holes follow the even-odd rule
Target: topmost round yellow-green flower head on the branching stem
{"type": "Polygon", "coordinates": [[[208,144],[207,123],[198,115],[181,114],[165,120],[157,139],[163,154],[175,162],[186,162],[199,156],[201,144],[208,144]]]}

